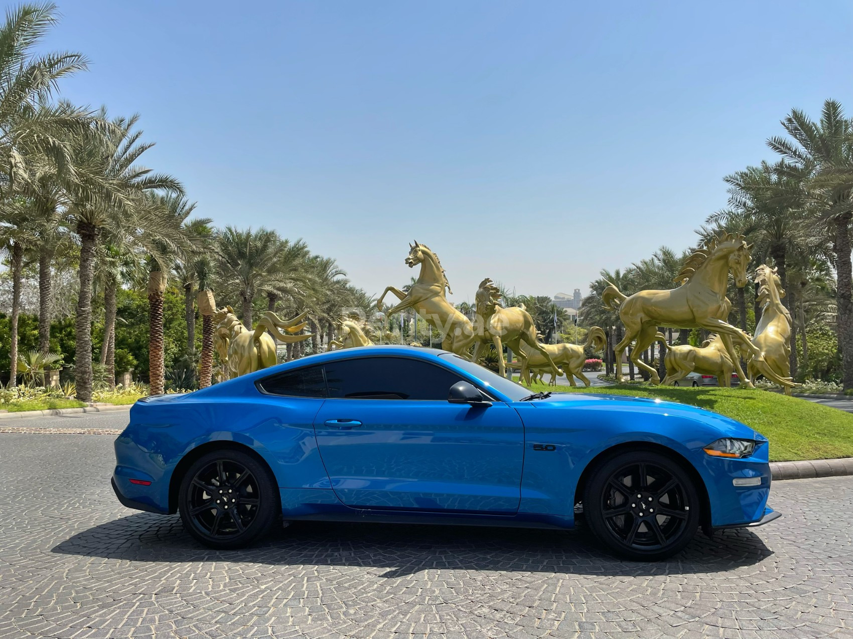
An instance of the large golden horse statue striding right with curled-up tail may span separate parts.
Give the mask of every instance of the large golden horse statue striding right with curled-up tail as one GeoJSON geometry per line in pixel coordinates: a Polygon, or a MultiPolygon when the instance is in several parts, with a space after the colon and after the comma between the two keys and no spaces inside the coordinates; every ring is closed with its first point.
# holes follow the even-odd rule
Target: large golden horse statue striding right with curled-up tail
{"type": "MultiPolygon", "coordinates": [[[[636,340],[631,361],[646,371],[653,383],[659,384],[658,371],[640,359],[642,352],[657,338],[658,326],[704,328],[719,335],[728,356],[734,362],[740,383],[746,388],[754,386],[740,367],[738,354],[734,350],[735,339],[745,345],[757,370],[765,377],[783,386],[792,386],[794,382],[791,377],[777,375],[764,360],[762,351],[751,343],[749,336],[726,321],[732,308],[732,302],[726,297],[728,272],[734,274],[736,285],[746,285],[750,249],[751,246],[746,245],[742,235],[723,232],[706,240],[701,249],[688,257],[681,272],[673,279],[682,282],[675,289],[639,291],[632,296],[625,296],[616,286],[607,286],[601,294],[601,301],[605,308],[618,310],[619,318],[625,325],[624,339],[613,348],[616,361],[622,361],[625,348],[636,340]]],[[[622,381],[621,366],[616,368],[616,381],[622,381]]]]}

